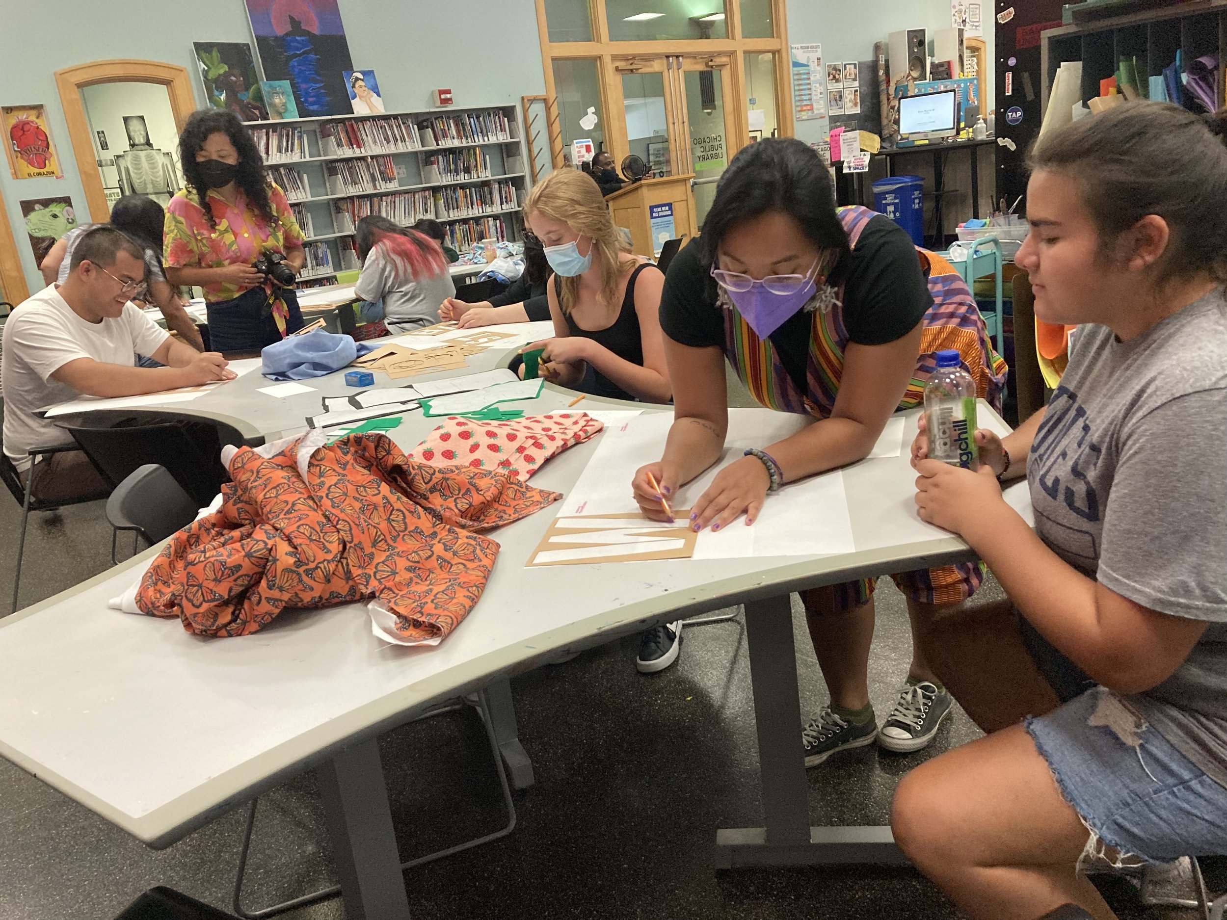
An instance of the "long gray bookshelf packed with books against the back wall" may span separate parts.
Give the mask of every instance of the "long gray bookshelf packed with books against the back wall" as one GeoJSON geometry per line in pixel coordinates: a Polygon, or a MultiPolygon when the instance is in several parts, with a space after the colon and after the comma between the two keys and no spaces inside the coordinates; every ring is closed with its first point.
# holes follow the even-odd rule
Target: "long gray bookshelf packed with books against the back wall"
{"type": "Polygon", "coordinates": [[[480,239],[520,239],[526,175],[515,105],[247,126],[307,236],[302,287],[362,267],[353,226],[372,213],[405,227],[434,218],[460,251],[480,239]]]}

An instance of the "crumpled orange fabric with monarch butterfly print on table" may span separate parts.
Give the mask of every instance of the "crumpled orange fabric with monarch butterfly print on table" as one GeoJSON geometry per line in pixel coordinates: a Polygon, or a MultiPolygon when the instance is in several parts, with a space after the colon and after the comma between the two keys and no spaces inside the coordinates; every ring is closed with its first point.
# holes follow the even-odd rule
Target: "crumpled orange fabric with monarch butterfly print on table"
{"type": "Polygon", "coordinates": [[[142,613],[179,617],[201,635],[247,635],[286,607],[377,597],[400,639],[438,642],[472,610],[498,554],[474,531],[561,498],[485,470],[413,462],[383,434],[314,450],[296,439],[270,458],[239,448],[231,477],[221,509],[175,534],[146,572],[142,613]]]}

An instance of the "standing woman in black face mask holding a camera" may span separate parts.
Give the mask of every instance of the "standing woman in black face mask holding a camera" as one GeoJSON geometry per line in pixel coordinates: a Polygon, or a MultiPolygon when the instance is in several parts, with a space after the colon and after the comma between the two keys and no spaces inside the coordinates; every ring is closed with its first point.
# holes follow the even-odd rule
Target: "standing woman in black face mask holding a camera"
{"type": "Polygon", "coordinates": [[[285,256],[297,275],[303,232],[286,194],[264,173],[252,135],[232,112],[205,109],[179,135],[187,188],[166,211],[166,276],[204,288],[213,351],[258,351],[302,329],[293,288],[253,264],[285,256]]]}

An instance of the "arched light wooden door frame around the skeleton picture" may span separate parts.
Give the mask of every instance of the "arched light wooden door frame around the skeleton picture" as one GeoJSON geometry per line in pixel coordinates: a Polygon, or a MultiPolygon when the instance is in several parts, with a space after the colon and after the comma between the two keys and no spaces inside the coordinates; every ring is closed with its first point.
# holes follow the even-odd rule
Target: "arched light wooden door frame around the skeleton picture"
{"type": "Polygon", "coordinates": [[[60,91],[60,104],[64,107],[64,120],[69,125],[69,140],[72,144],[77,174],[85,189],[86,207],[90,218],[101,223],[110,217],[110,209],[107,206],[102,172],[93,152],[93,136],[81,101],[81,90],[97,83],[161,83],[166,87],[171,113],[175,128],[180,131],[188,115],[195,110],[196,99],[191,94],[191,81],[187,67],[177,64],[153,60],[99,60],[55,71],[55,86],[60,91]]]}

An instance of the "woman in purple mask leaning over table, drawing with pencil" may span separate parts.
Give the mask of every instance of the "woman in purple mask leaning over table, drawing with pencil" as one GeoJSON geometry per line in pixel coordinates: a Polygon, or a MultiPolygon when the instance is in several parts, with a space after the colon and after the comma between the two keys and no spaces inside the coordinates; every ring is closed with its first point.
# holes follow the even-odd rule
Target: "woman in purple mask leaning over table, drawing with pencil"
{"type": "MultiPolygon", "coordinates": [[[[751,144],[734,157],[702,238],[669,266],[660,326],[675,421],[661,460],[634,477],[649,516],[665,519],[648,473],[667,499],[723,453],[726,359],[764,406],[815,420],[720,471],[693,504],[696,530],[720,530],[742,515],[737,526],[752,524],[768,492],[864,459],[893,412],[919,405],[937,351],[958,351],[994,405],[1005,381],[1005,362],[951,265],[917,250],[882,215],[837,209],[822,161],[793,139],[751,144]]],[[[913,633],[982,579],[974,563],[897,575],[913,633]]],[[[867,684],[872,591],[864,579],[801,594],[831,692],[831,704],[801,732],[807,767],[875,738],[918,751],[950,709],[913,643],[908,680],[879,732],[867,684]]]]}

